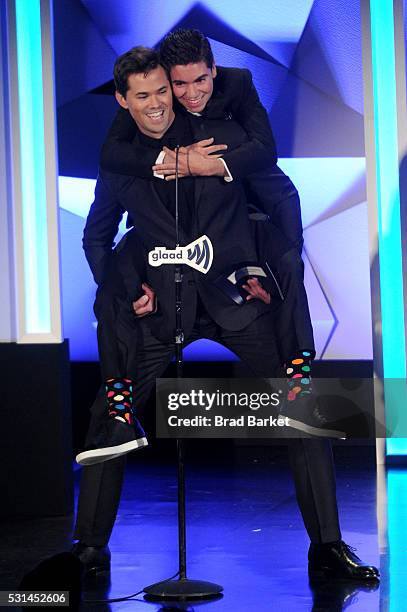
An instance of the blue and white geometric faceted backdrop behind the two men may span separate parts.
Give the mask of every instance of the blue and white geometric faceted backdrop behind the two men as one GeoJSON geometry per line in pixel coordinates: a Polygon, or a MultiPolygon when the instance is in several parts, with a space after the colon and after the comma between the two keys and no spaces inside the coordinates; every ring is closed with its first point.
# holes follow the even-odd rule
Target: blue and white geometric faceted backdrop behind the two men
{"type": "MultiPolygon", "coordinates": [[[[63,317],[72,358],[97,359],[95,286],[81,236],[116,111],[113,97],[89,92],[111,80],[117,55],[184,26],[210,38],[218,64],[252,71],[279,163],[301,196],[318,356],[371,359],[359,1],[57,0],[54,19],[63,317]]],[[[213,344],[205,353],[207,344],[187,356],[230,358],[213,344]]]]}

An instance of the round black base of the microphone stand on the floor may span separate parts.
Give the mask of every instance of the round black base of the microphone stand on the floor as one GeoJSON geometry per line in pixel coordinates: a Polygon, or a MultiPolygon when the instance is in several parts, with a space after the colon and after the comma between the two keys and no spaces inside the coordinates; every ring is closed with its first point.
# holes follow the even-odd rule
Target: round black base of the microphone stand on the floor
{"type": "Polygon", "coordinates": [[[145,598],[153,599],[211,599],[218,597],[223,591],[220,584],[207,582],[206,580],[189,580],[180,578],[179,580],[168,580],[156,582],[144,589],[145,598]]]}

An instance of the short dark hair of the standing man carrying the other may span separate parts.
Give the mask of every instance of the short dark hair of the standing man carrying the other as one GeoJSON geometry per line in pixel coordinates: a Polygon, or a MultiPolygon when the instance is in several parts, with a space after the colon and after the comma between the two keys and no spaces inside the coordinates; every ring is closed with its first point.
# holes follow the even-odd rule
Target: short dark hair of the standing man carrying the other
{"type": "Polygon", "coordinates": [[[130,51],[126,51],[120,55],[113,68],[113,77],[116,90],[126,97],[129,89],[128,77],[131,74],[144,73],[144,76],[159,66],[160,60],[158,52],[155,49],[148,47],[133,47],[130,51]]]}

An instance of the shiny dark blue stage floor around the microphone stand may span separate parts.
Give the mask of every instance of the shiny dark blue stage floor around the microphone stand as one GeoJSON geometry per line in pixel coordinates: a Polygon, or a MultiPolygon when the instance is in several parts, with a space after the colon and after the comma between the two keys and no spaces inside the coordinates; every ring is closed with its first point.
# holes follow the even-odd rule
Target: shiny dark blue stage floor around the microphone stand
{"type": "MultiPolygon", "coordinates": [[[[210,452],[210,445],[204,446],[205,452],[210,452]]],[[[397,525],[405,526],[406,499],[398,498],[398,491],[406,489],[407,473],[392,470],[387,485],[385,477],[379,477],[380,503],[377,505],[374,449],[342,446],[335,450],[343,537],[357,547],[363,559],[381,565],[380,589],[353,590],[344,584],[312,591],[306,571],[308,538],[297,509],[284,449],[268,449],[264,453],[252,447],[238,449],[226,464],[211,461],[202,467],[194,460],[188,468],[189,575],[219,582],[224,586],[224,596],[219,601],[182,609],[407,610],[402,587],[405,564],[396,565],[397,559],[401,561],[403,554],[404,557],[407,554],[407,547],[403,533],[395,532],[397,525]],[[387,501],[386,488],[389,489],[387,501]],[[394,503],[396,515],[390,503],[394,503]],[[381,558],[377,507],[381,523],[379,539],[384,551],[381,558]],[[388,542],[394,547],[391,582],[388,542]]],[[[86,599],[134,593],[177,570],[173,454],[168,462],[170,465],[156,460],[142,462],[136,454],[131,457],[110,544],[111,584],[105,588],[88,588],[84,594],[86,599]]],[[[1,589],[16,588],[22,575],[40,559],[67,550],[71,528],[71,517],[3,523],[1,589]]],[[[129,601],[113,603],[110,607],[84,603],[82,609],[169,611],[175,608],[129,601]]]]}

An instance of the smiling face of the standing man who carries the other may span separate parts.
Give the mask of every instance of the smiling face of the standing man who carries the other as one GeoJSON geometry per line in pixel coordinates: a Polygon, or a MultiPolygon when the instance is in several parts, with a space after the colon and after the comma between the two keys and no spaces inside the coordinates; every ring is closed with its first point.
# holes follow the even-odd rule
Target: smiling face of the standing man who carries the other
{"type": "Polygon", "coordinates": [[[157,66],[146,75],[131,74],[126,96],[116,92],[120,106],[128,109],[140,132],[151,138],[161,138],[174,120],[172,93],[167,74],[157,66]]]}

